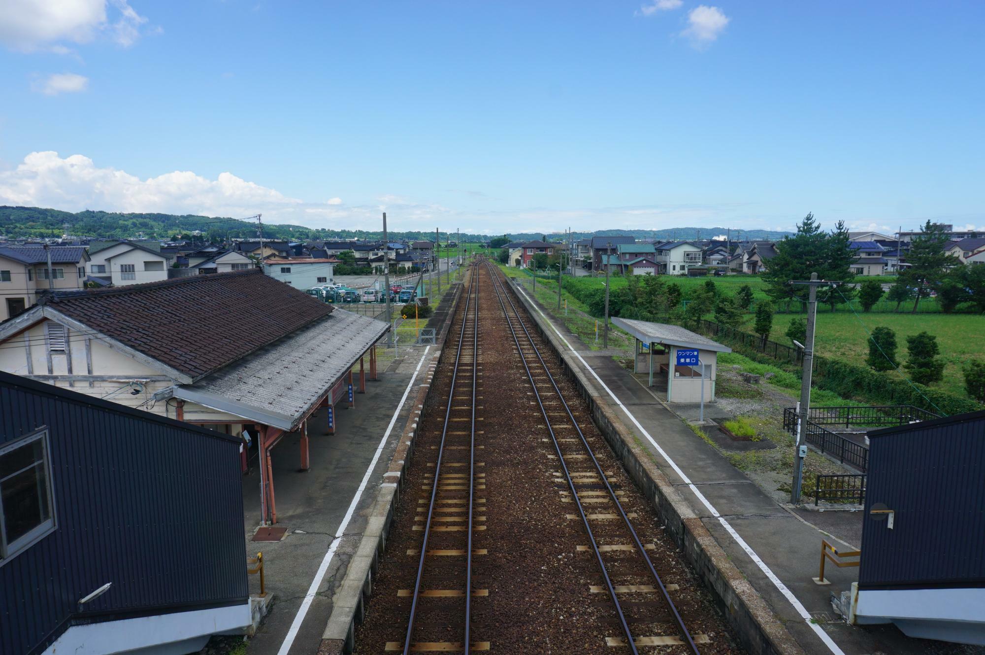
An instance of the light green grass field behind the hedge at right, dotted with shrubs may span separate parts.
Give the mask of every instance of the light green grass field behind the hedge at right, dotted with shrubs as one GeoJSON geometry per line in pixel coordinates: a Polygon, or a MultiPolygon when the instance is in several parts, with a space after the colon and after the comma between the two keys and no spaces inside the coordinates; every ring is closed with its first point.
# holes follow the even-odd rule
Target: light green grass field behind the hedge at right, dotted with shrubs
{"type": "MultiPolygon", "coordinates": [[[[790,320],[804,315],[779,314],[773,318],[770,338],[789,344],[784,335],[790,320]]],[[[711,319],[712,317],[708,317],[711,319]]],[[[753,317],[747,320],[747,330],[752,331],[753,317]]],[[[821,357],[834,357],[865,366],[869,354],[869,336],[866,329],[885,326],[896,332],[896,359],[906,360],[906,337],[926,330],[937,336],[941,356],[946,362],[944,380],[932,385],[957,396],[964,397],[964,376],[961,367],[968,359],[985,360],[985,317],[969,314],[862,314],[858,318],[851,312],[818,314],[818,332],[815,351],[821,357]],[[863,327],[864,326],[864,327],[863,327]]],[[[904,369],[905,371],[905,369],[904,369]]]]}

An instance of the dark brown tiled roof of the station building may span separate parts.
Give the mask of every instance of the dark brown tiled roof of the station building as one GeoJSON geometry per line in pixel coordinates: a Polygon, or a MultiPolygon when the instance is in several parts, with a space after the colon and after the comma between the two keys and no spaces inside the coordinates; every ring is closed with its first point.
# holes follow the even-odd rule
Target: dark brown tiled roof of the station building
{"type": "Polygon", "coordinates": [[[52,309],[198,379],[332,312],[259,268],[55,296],[52,309]]]}

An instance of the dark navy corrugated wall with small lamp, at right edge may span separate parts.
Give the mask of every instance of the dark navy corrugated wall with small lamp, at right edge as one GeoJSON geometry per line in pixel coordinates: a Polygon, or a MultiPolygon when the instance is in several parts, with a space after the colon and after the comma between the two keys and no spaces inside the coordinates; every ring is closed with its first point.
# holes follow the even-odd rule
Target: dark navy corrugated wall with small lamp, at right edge
{"type": "Polygon", "coordinates": [[[985,411],[869,438],[859,589],[985,586],[985,411]]]}

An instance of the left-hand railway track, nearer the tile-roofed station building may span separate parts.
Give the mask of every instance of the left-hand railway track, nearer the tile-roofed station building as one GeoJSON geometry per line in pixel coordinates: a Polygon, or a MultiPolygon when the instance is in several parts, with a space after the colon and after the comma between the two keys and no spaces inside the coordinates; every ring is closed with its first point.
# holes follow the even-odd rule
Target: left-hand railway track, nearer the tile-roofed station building
{"type": "MultiPolygon", "coordinates": [[[[418,517],[424,523],[425,534],[418,559],[417,578],[410,593],[412,600],[407,636],[403,644],[390,642],[386,646],[387,650],[402,649],[404,655],[428,650],[460,650],[468,654],[473,650],[489,650],[490,647],[488,641],[471,642],[472,597],[485,595],[486,592],[475,590],[472,585],[473,533],[485,530],[485,526],[475,524],[486,518],[483,511],[480,511],[481,516],[476,516],[477,479],[483,475],[476,474],[476,401],[480,384],[479,277],[479,268],[473,266],[465,293],[465,311],[458,332],[427,514],[418,517]],[[455,568],[464,570],[456,575],[455,568]],[[452,603],[449,607],[449,599],[461,599],[463,607],[457,608],[458,619],[454,618],[458,604],[452,603]],[[419,614],[425,615],[420,621],[419,614]],[[447,639],[448,626],[456,623],[461,625],[460,641],[447,639]],[[435,640],[434,635],[444,635],[444,638],[435,640]],[[415,640],[416,636],[420,638],[415,640]]],[[[485,488],[485,484],[478,486],[485,488]]],[[[482,504],[486,499],[478,500],[482,504]]]]}

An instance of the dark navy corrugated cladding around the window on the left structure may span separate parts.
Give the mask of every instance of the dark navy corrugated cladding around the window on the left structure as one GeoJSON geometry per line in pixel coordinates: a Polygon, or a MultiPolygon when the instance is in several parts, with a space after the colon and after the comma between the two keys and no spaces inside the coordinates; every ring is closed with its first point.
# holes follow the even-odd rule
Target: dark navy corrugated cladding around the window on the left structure
{"type": "Polygon", "coordinates": [[[248,602],[237,440],[0,373],[0,447],[43,427],[56,528],[0,560],[0,653],[73,623],[248,602]]]}

